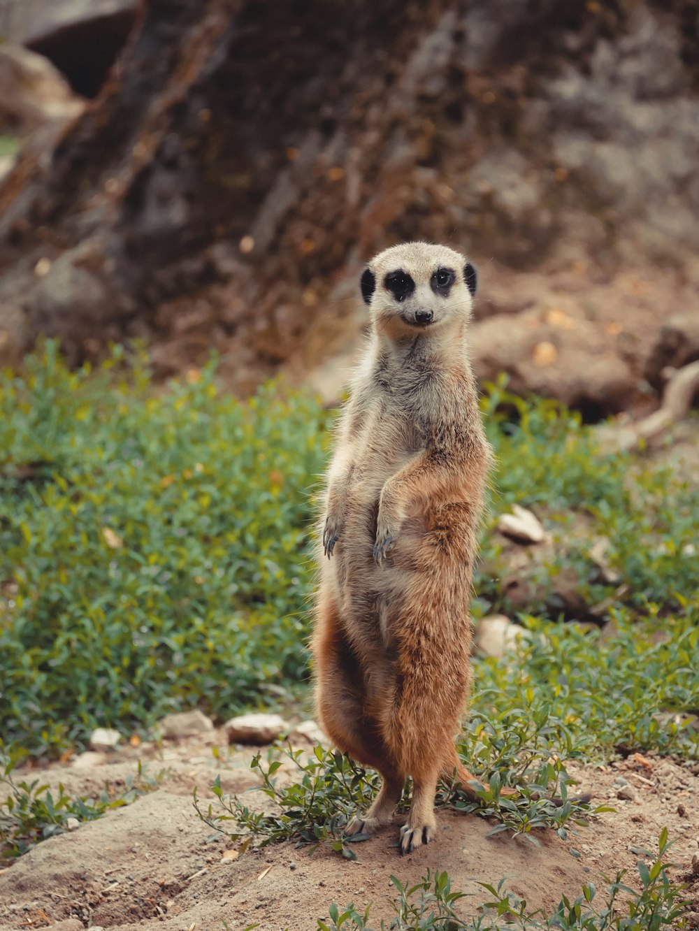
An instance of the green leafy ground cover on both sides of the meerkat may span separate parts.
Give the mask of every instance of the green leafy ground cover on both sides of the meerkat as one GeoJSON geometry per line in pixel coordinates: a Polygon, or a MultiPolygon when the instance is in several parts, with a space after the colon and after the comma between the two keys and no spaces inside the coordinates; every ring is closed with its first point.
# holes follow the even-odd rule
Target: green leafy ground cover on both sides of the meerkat
{"type": "MultiPolygon", "coordinates": [[[[484,771],[495,765],[518,778],[513,740],[542,756],[552,743],[569,757],[605,756],[625,744],[689,752],[692,735],[673,715],[699,706],[690,558],[697,488],[643,459],[600,456],[591,430],[553,402],[522,401],[493,385],[483,410],[499,464],[492,519],[515,502],[533,506],[558,542],[524,607],[534,631],[525,656],[512,661],[513,674],[477,664],[466,755],[485,754],[484,771]],[[571,520],[583,518],[585,534],[569,534],[571,520]],[[599,578],[589,556],[598,535],[609,540],[624,587],[599,578]],[[620,629],[608,645],[549,623],[558,616],[549,593],[561,570],[587,603],[607,600],[606,616],[620,629]],[[656,642],[658,631],[669,639],[656,642]],[[496,764],[497,739],[504,745],[496,764]]],[[[7,745],[57,755],[85,746],[98,724],[146,731],[180,708],[223,717],[269,704],[270,683],[298,692],[308,679],[313,495],[331,421],[314,398],[279,385],[232,398],[213,364],[195,379],[156,387],[143,359],[119,348],[99,371],[69,371],[49,342],[20,373],[6,371],[7,745]]],[[[475,616],[509,607],[499,534],[484,533],[482,550],[475,616]]]]}

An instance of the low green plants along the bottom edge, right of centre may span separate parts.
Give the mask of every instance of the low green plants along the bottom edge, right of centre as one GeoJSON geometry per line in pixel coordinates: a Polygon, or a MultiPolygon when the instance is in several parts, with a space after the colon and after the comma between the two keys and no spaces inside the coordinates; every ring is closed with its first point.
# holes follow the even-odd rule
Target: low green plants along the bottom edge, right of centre
{"type": "MultiPolygon", "coordinates": [[[[686,919],[689,903],[683,897],[683,886],[673,883],[665,862],[669,843],[663,829],[657,853],[646,852],[653,859],[647,866],[639,860],[639,889],[625,884],[625,870],[620,870],[609,884],[606,896],[600,901],[594,883],[583,887],[582,895],[571,901],[562,897],[558,908],[546,915],[543,910],[531,911],[527,902],[506,888],[506,879],[497,885],[479,883],[491,898],[481,903],[476,917],[463,917],[456,905],[464,893],[452,892],[448,873],[427,871],[420,883],[408,886],[396,876],[391,882],[398,895],[390,899],[396,917],[391,924],[381,922],[381,931],[497,931],[504,927],[529,929],[555,929],[559,931],[662,931],[665,927],[689,927],[686,919]]],[[[329,907],[331,924],[318,922],[321,931],[336,931],[341,927],[356,931],[374,931],[369,924],[370,906],[364,912],[350,905],[342,913],[334,903],[329,907]]]]}

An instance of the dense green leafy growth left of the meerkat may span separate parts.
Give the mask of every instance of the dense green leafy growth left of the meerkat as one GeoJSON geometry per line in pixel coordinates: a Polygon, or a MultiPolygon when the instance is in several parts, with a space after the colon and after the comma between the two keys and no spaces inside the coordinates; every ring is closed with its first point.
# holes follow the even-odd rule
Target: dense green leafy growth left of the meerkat
{"type": "Polygon", "coordinates": [[[223,395],[213,368],[156,392],[138,358],[72,372],[49,343],[0,381],[6,740],[60,749],[305,678],[326,414],[223,395]]]}

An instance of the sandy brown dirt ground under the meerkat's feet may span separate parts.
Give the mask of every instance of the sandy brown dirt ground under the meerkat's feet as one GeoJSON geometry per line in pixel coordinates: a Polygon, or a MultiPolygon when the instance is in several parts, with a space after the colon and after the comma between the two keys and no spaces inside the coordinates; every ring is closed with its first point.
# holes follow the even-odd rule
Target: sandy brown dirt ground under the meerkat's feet
{"type": "MultiPolygon", "coordinates": [[[[340,906],[353,902],[358,909],[372,902],[371,924],[378,926],[382,918],[388,924],[393,914],[391,874],[412,883],[428,869],[448,870],[452,888],[473,895],[462,900],[464,917],[488,897],[477,880],[497,884],[503,876],[531,908],[548,910],[563,893],[579,895],[589,880],[603,887],[603,873],[613,876],[626,868],[635,878],[635,848],[652,850],[664,826],[676,839],[672,859],[677,868],[671,876],[690,882],[688,896],[699,908],[699,877],[690,876],[699,843],[696,765],[631,756],[607,767],[571,770],[581,789],[592,791],[594,803],[609,803],[616,812],[599,816],[567,841],[552,830],[541,831],[541,848],[505,833],[487,838],[488,821],[442,811],[437,841],[409,857],[398,857],[392,846],[397,818],[393,827],[356,845],[355,862],[323,849],[311,855],[290,844],[224,859],[224,851],[235,844],[212,837],[195,816],[192,790],[196,786],[202,800],[213,801],[208,789],[217,773],[224,791],[249,788],[253,752],[250,747],[228,750],[219,731],[159,748],[128,747],[109,758],[86,755],[20,774],[40,776],[52,788],[61,782],[66,791],[94,794],[105,780],[123,787],[141,760],[147,775],[158,776],[159,788],[38,844],[1,871],[0,931],[47,926],[61,931],[218,931],[250,924],[305,931],[327,917],[333,901],[340,906]],[[214,758],[213,746],[220,748],[222,760],[214,758]],[[630,798],[619,799],[620,791],[630,798]]],[[[250,802],[256,798],[249,796],[250,802]]]]}

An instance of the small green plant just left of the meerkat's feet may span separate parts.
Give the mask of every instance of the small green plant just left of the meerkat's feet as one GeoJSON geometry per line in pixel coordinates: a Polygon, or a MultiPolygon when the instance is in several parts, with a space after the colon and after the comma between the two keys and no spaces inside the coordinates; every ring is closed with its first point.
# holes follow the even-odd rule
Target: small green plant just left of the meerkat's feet
{"type": "Polygon", "coordinates": [[[202,809],[196,795],[194,805],[197,816],[216,830],[226,830],[233,821],[236,829],[226,830],[236,841],[251,837],[259,846],[280,841],[310,843],[316,849],[319,843],[329,846],[347,859],[356,859],[350,843],[366,840],[367,835],[345,837],[343,830],[357,810],[369,807],[378,788],[376,774],[366,773],[342,753],[316,747],[314,756],[303,761],[302,750],[290,747],[284,756],[296,767],[300,779],[285,785],[277,775],[281,760],[262,762],[257,753],[250,763],[262,779],[262,786],[248,792],[262,792],[275,803],[278,813],[265,815],[251,810],[235,795],[224,795],[221,778],[217,776],[211,791],[217,803],[202,809]]]}

